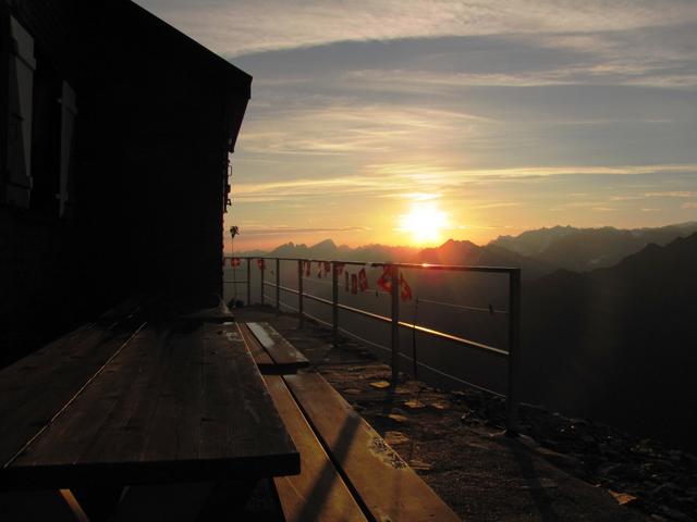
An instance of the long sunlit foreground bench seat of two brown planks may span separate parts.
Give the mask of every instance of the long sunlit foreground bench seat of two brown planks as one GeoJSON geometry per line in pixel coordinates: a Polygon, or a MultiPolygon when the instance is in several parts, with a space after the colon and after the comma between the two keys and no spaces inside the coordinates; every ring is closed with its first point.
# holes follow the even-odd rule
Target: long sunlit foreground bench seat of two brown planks
{"type": "Polygon", "coordinates": [[[264,378],[301,453],[274,478],[288,521],[460,520],[320,374],[264,378]]]}

